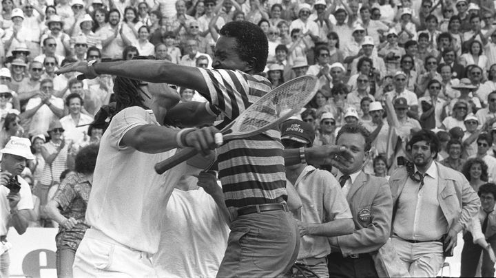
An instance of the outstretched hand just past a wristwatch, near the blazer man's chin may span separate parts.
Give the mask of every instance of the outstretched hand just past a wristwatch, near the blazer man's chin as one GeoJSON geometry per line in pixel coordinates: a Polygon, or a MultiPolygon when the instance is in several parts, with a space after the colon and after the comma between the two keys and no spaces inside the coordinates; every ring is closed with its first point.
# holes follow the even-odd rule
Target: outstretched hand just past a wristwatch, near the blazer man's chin
{"type": "Polygon", "coordinates": [[[307,161],[313,164],[331,164],[334,167],[344,168],[354,161],[349,149],[335,145],[312,147],[305,149],[305,152],[307,161]]]}

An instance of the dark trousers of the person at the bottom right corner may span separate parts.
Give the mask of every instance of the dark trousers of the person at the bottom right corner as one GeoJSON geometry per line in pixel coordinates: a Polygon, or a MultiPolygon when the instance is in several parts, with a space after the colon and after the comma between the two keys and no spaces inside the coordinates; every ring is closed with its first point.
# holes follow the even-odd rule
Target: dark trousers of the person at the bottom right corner
{"type": "MultiPolygon", "coordinates": [[[[491,246],[495,246],[496,237],[490,237],[487,241],[491,246]]],[[[494,250],[494,247],[493,247],[494,250]]],[[[473,237],[470,232],[466,232],[464,235],[464,248],[462,249],[462,268],[460,269],[461,277],[475,277],[475,272],[477,271],[477,265],[479,264],[480,255],[482,255],[482,277],[494,277],[495,268],[493,262],[490,261],[489,255],[486,250],[479,246],[479,244],[473,243],[473,237]]]]}

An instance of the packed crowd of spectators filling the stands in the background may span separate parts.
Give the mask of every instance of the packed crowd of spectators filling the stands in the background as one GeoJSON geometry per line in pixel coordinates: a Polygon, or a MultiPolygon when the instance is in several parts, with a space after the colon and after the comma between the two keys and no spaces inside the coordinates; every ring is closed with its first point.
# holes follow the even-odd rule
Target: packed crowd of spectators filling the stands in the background
{"type": "MultiPolygon", "coordinates": [[[[371,132],[364,171],[382,177],[409,156],[420,129],[437,133],[437,160],[475,191],[496,182],[496,23],[493,0],[2,0],[0,149],[30,138],[24,177],[35,208],[97,144],[91,125],[112,101],[114,76],[79,81],[54,71],[78,61],[158,60],[211,68],[218,31],[250,21],[267,35],[265,72],[278,87],[311,74],[320,87],[301,118],[314,146],[340,127],[371,132]]],[[[247,45],[249,47],[249,45],[247,45]]],[[[181,101],[205,101],[178,88],[181,101]]],[[[401,163],[400,163],[401,164],[401,163]]],[[[40,211],[39,208],[35,209],[40,211]]],[[[32,226],[54,226],[41,210],[32,226]],[[45,217],[46,218],[46,217],[45,217]]],[[[56,225],[56,223],[55,223],[56,225]]]]}

